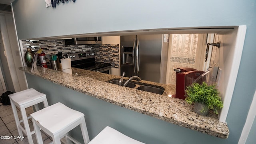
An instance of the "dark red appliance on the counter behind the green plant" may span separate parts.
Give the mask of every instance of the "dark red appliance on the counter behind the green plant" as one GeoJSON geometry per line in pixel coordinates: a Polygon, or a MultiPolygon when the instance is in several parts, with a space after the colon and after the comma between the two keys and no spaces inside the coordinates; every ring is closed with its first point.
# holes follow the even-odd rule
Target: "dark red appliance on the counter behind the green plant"
{"type": "MultiPolygon", "coordinates": [[[[177,68],[174,69],[176,71],[176,94],[172,95],[174,98],[180,98],[180,99],[185,99],[185,90],[186,87],[189,86],[200,76],[203,74],[203,71],[196,70],[194,68],[177,68]]],[[[202,80],[205,78],[202,78],[202,80]]],[[[199,82],[202,82],[200,80],[199,82]]]]}

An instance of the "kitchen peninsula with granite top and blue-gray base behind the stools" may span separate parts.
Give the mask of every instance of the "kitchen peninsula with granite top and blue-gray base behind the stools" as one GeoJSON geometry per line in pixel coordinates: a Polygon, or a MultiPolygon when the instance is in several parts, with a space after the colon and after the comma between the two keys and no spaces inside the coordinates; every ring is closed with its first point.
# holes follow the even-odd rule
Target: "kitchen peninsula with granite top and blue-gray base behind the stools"
{"type": "Polygon", "coordinates": [[[50,105],[62,102],[83,112],[90,139],[107,125],[148,144],[164,144],[171,141],[170,135],[182,138],[184,132],[208,134],[218,137],[217,141],[228,138],[227,124],[216,115],[200,116],[184,100],[168,97],[175,93],[175,86],[142,80],[164,87],[164,94],[159,95],[110,84],[106,81],[120,78],[110,74],[76,68],[72,68],[74,74],[42,67],[32,72],[28,67],[19,69],[25,72],[28,87],[45,93],[50,105]]]}

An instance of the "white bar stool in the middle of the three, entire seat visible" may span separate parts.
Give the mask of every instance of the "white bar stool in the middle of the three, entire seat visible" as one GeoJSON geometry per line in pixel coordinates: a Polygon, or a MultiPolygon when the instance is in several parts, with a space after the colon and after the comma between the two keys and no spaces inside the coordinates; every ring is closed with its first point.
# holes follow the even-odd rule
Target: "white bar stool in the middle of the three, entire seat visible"
{"type": "Polygon", "coordinates": [[[79,144],[78,141],[68,135],[68,132],[78,125],[80,125],[84,143],[88,144],[90,141],[84,114],[72,110],[60,102],[39,110],[38,112],[34,112],[33,114],[30,114],[30,116],[32,117],[38,144],[43,144],[40,128],[52,137],[54,144],[60,144],[60,139],[64,136],[68,143],[70,143],[71,140],[72,142],[79,144]]]}

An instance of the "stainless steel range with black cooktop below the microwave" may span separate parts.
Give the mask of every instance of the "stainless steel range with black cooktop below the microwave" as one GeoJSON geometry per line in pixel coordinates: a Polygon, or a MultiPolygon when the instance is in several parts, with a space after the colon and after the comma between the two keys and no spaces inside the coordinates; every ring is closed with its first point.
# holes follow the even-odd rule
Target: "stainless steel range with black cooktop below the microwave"
{"type": "Polygon", "coordinates": [[[71,66],[74,68],[111,74],[111,65],[104,62],[96,62],[94,52],[76,52],[67,54],[66,57],[71,58],[71,66]]]}

